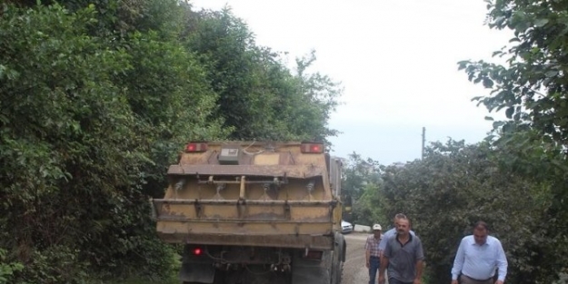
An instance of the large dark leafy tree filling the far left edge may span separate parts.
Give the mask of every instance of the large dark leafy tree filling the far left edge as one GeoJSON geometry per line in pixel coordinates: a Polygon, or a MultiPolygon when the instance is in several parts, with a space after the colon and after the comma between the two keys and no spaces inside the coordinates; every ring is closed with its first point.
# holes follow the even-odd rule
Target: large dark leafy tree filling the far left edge
{"type": "Polygon", "coordinates": [[[62,244],[81,265],[82,247],[114,237],[110,224],[124,216],[123,198],[137,182],[130,172],[144,162],[135,120],[111,80],[127,56],[85,35],[93,12],[6,6],[0,22],[0,194],[3,231],[13,236],[2,246],[19,248],[26,271],[40,260],[35,250],[62,244]]]}

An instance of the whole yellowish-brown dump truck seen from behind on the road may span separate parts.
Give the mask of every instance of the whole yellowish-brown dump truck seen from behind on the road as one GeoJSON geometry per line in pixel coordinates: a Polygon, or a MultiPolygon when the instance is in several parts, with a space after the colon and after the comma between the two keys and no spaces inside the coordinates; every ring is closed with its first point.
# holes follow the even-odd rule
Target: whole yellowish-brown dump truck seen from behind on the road
{"type": "Polygon", "coordinates": [[[338,284],[340,159],[321,142],[189,142],[152,204],[182,283],[338,284]]]}

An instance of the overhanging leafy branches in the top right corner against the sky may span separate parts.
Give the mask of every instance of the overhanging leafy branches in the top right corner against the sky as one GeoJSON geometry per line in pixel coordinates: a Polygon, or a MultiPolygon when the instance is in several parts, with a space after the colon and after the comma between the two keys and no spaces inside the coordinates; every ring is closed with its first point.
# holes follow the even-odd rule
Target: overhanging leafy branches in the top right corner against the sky
{"type": "Polygon", "coordinates": [[[507,58],[507,66],[460,63],[471,81],[493,89],[490,96],[476,98],[490,111],[504,108],[508,118],[528,123],[547,141],[563,145],[568,138],[567,8],[562,1],[488,1],[487,24],[514,32],[512,46],[493,53],[507,58]]]}

